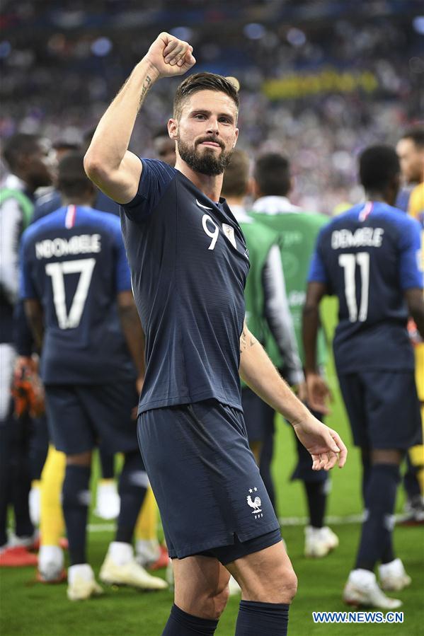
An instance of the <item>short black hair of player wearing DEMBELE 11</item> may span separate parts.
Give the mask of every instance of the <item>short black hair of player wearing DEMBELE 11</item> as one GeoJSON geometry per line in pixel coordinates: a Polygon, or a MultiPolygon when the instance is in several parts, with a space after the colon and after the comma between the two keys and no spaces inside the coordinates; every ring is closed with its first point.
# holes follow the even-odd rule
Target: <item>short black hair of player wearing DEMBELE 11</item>
{"type": "Polygon", "coordinates": [[[393,146],[369,146],[359,157],[360,182],[365,190],[383,192],[401,173],[399,157],[393,146]]]}

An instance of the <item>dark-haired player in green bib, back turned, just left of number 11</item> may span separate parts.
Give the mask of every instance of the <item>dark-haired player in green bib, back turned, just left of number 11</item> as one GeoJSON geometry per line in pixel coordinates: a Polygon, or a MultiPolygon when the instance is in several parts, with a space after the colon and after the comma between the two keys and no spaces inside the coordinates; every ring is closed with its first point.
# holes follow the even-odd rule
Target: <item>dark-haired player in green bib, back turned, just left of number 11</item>
{"type": "MultiPolygon", "coordinates": [[[[301,327],[306,277],[316,235],[326,224],[328,217],[323,214],[306,214],[290,202],[288,198],[292,190],[290,162],[280,153],[268,153],[258,157],[253,169],[253,190],[256,200],[253,203],[251,215],[261,224],[273,229],[279,237],[282,271],[297,340],[297,350],[304,364],[301,327]]],[[[322,330],[319,332],[317,347],[319,368],[322,370],[326,362],[326,343],[322,330]]],[[[282,376],[291,383],[287,359],[281,357],[273,338],[268,337],[267,350],[282,376]]],[[[306,395],[302,395],[302,399],[305,398],[306,395]]],[[[322,420],[326,411],[313,412],[315,417],[322,420]]],[[[260,470],[263,474],[270,475],[273,437],[274,428],[272,427],[266,437],[260,459],[260,470]]],[[[296,436],[295,438],[298,461],[292,479],[302,480],[309,513],[309,524],[305,528],[304,553],[307,557],[323,557],[338,545],[336,534],[324,525],[331,482],[324,470],[312,470],[309,453],[299,443],[296,436]]]]}

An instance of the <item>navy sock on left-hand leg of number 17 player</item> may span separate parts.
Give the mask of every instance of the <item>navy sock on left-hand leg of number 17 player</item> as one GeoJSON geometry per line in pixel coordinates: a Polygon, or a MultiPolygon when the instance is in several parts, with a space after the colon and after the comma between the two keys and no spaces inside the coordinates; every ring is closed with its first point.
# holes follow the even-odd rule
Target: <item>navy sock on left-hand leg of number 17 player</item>
{"type": "Polygon", "coordinates": [[[90,466],[68,465],[62,487],[62,507],[69,541],[70,565],[86,563],[86,526],[90,503],[90,466]]]}

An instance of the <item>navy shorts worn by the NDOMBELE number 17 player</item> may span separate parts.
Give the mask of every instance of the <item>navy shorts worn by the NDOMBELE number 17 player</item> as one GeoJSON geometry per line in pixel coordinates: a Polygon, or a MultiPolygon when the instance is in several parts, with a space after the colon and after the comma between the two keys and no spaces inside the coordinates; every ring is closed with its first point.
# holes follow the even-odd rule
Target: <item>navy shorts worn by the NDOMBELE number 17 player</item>
{"type": "Polygon", "coordinates": [[[45,387],[47,421],[55,448],[67,455],[91,451],[100,441],[105,451],[137,450],[135,382],[45,387]]]}

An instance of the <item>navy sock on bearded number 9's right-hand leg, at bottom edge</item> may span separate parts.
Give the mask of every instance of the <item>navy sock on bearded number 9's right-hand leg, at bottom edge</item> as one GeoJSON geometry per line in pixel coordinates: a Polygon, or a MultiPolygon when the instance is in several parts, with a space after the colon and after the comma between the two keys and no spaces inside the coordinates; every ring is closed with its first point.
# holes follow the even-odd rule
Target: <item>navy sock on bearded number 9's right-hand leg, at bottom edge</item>
{"type": "Polygon", "coordinates": [[[286,636],[288,603],[240,601],[236,636],[286,636]]]}

